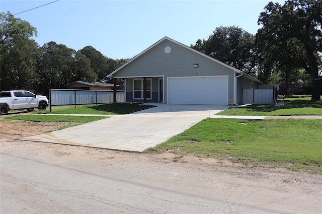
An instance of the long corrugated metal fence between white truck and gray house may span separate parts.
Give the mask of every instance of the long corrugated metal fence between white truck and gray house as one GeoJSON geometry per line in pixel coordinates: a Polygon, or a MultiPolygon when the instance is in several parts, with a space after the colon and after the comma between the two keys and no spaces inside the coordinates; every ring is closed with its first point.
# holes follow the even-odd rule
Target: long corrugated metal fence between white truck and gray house
{"type": "MultiPolygon", "coordinates": [[[[116,91],[116,101],[125,101],[125,92],[116,91]]],[[[114,91],[103,90],[78,90],[78,89],[49,89],[49,104],[58,105],[80,105],[113,103],[114,91]]]]}

